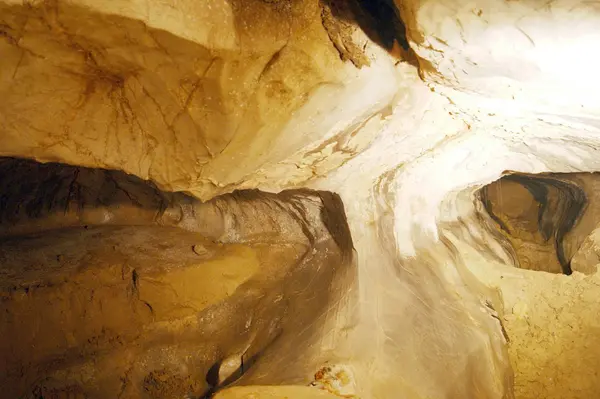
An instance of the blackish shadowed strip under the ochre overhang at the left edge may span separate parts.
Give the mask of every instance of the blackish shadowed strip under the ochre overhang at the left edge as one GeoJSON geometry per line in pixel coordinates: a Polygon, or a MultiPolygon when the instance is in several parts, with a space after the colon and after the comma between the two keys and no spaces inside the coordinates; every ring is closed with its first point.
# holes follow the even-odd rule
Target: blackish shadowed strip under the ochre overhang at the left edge
{"type": "Polygon", "coordinates": [[[0,225],[85,208],[161,212],[176,195],[117,170],[0,158],[0,225]]]}

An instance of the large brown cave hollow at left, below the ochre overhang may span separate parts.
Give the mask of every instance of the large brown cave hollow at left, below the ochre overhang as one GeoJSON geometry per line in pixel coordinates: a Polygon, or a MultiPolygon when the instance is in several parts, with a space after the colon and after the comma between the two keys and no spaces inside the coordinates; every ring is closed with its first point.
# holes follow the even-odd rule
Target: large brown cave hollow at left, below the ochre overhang
{"type": "Polygon", "coordinates": [[[0,386],[200,398],[254,372],[311,375],[324,359],[304,348],[351,291],[352,251],[333,193],[201,202],[120,171],[0,158],[0,386]]]}

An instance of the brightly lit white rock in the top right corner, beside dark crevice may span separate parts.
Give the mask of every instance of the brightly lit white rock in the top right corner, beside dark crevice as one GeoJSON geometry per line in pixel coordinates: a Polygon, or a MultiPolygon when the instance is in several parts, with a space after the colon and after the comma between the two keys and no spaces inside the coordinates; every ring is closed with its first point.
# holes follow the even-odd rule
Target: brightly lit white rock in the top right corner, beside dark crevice
{"type": "Polygon", "coordinates": [[[570,0],[543,7],[536,2],[497,0],[395,3],[427,80],[508,100],[508,107],[512,103],[522,110],[571,116],[600,110],[595,90],[600,78],[593,67],[598,4],[570,0]]]}

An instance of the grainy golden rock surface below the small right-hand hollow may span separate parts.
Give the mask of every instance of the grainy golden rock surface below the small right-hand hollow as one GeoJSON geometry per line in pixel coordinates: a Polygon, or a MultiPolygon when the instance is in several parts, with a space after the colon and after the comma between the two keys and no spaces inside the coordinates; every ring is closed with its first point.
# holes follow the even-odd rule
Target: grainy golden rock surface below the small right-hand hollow
{"type": "Polygon", "coordinates": [[[500,317],[509,340],[515,398],[598,397],[600,272],[566,276],[518,269],[483,256],[471,252],[467,264],[502,298],[500,317]]]}

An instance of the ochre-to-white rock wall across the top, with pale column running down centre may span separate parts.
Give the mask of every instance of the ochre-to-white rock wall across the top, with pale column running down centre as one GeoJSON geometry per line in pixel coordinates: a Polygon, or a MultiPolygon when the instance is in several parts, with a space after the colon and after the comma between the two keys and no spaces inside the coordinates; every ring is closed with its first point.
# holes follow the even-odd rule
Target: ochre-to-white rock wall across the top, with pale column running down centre
{"type": "Polygon", "coordinates": [[[339,355],[361,397],[510,398],[499,319],[514,303],[486,275],[511,259],[473,193],[508,170],[598,170],[599,13],[396,5],[417,68],[352,21],[332,34],[316,1],[5,1],[1,154],[120,169],[204,200],[338,192],[358,256],[352,336],[367,342],[339,355]]]}

